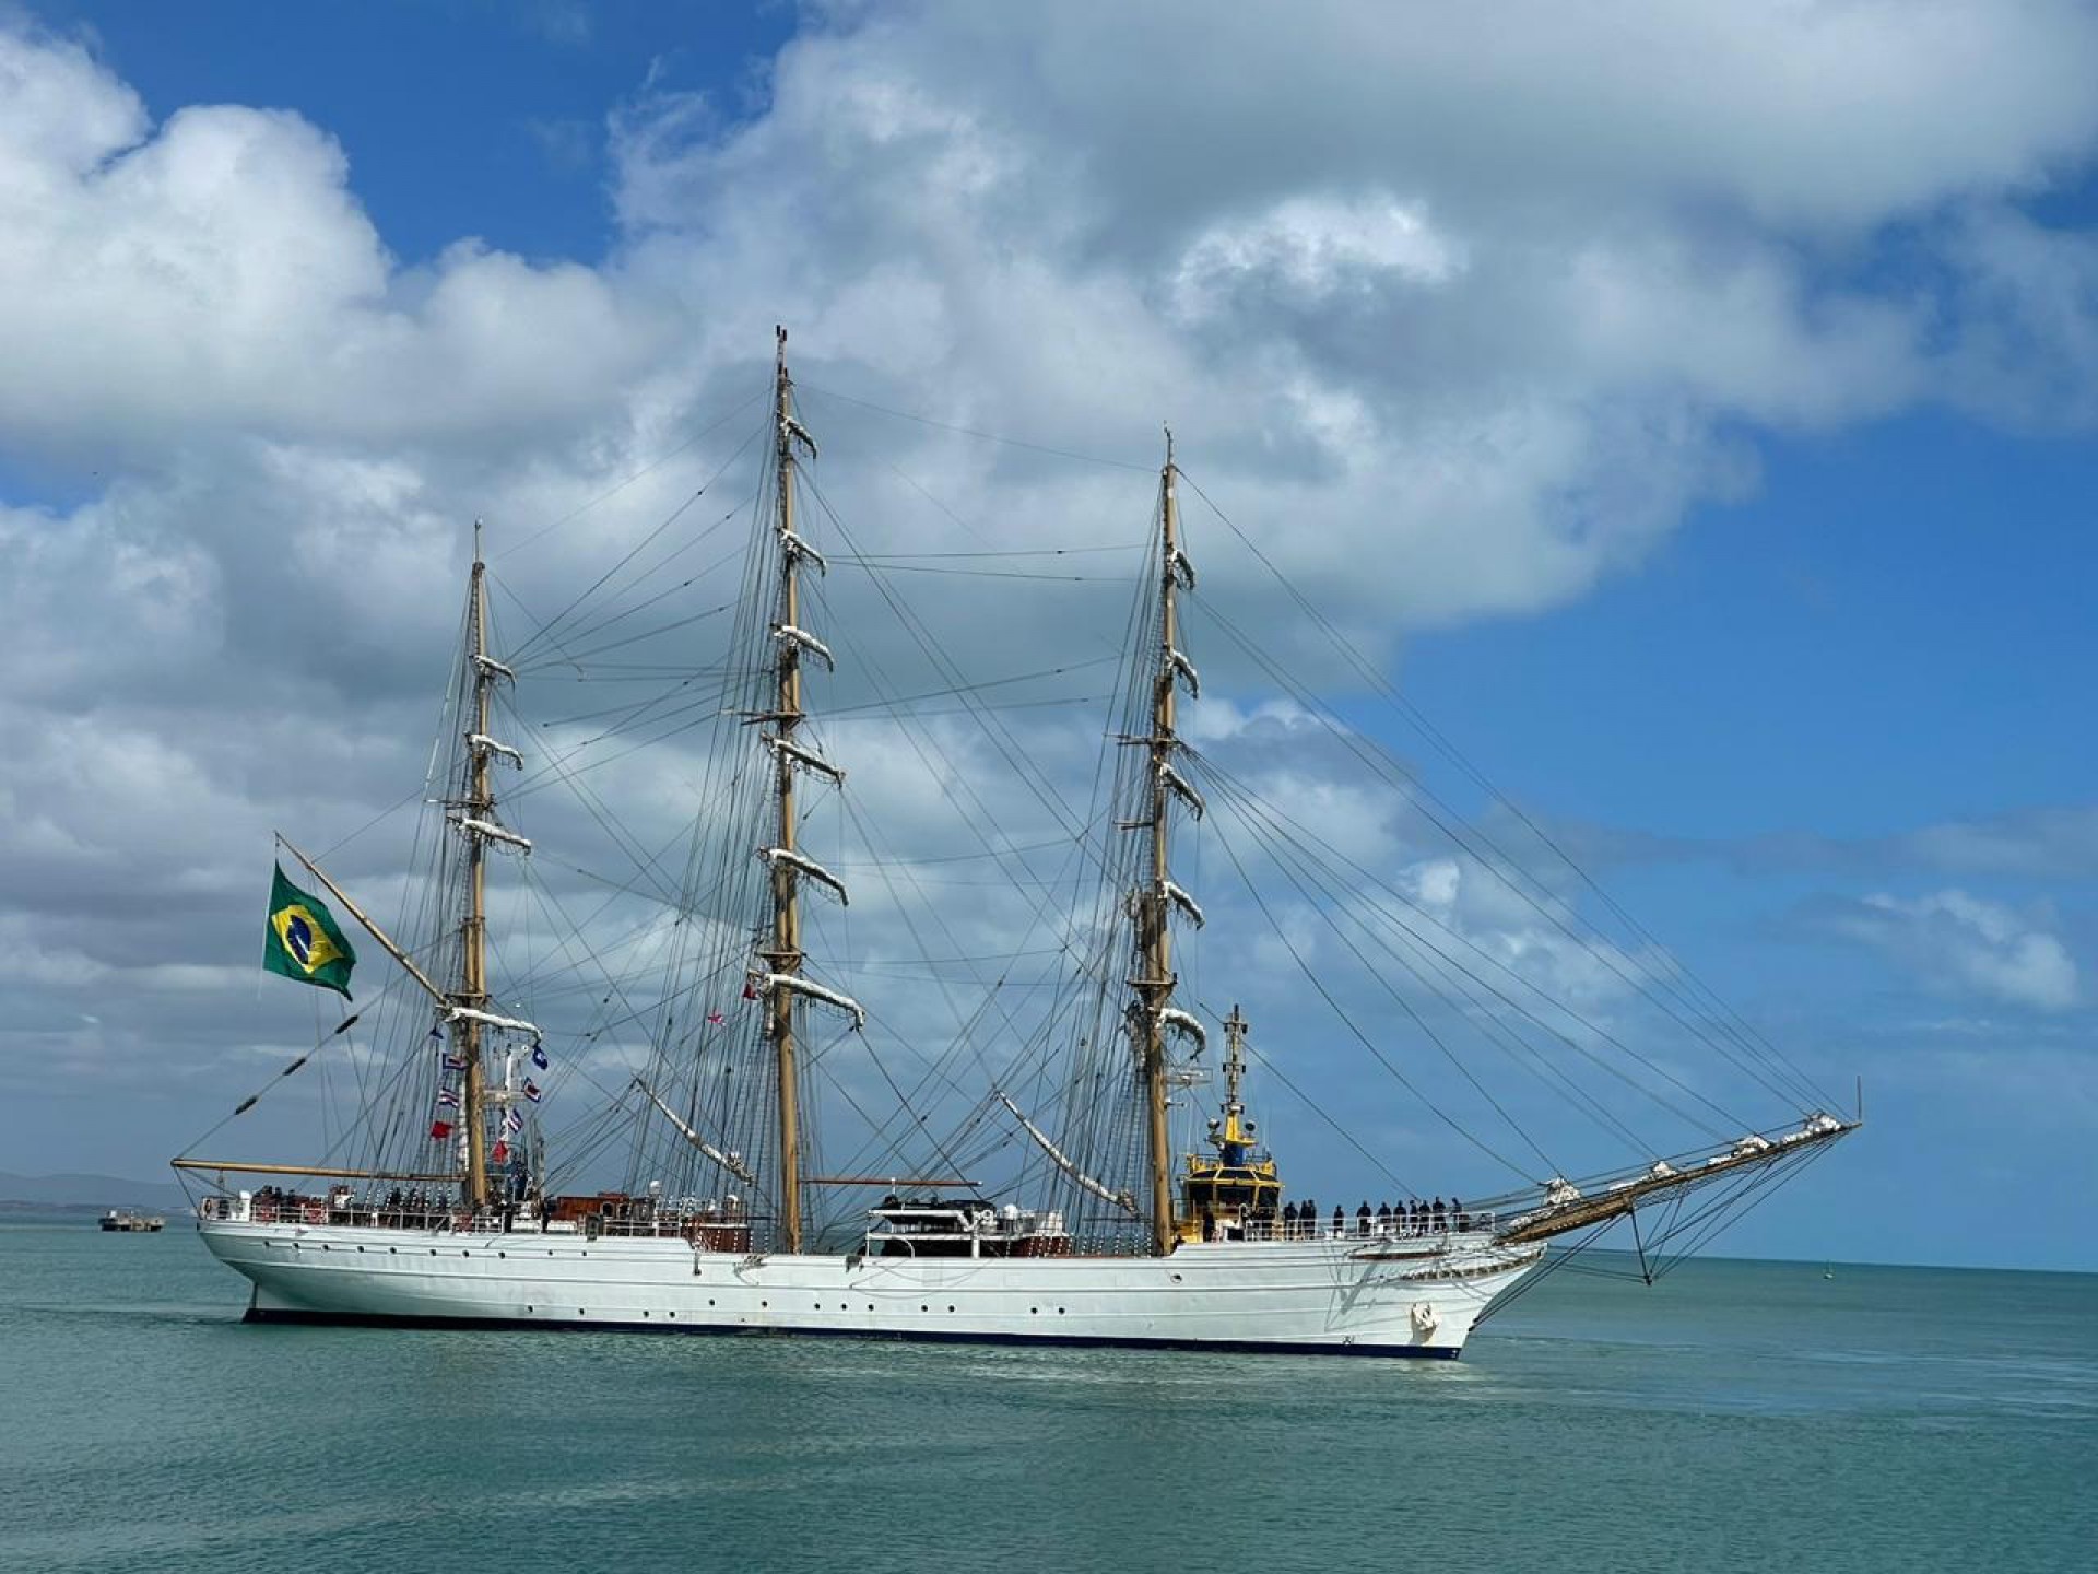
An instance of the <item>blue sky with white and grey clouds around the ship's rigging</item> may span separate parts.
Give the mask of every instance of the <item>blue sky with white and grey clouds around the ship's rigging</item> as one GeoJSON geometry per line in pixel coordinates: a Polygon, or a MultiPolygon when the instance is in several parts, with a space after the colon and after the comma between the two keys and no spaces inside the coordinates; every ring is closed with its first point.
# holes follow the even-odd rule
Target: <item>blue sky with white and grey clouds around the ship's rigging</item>
{"type": "MultiPolygon", "coordinates": [[[[2094,67],[2050,0],[0,4],[0,1169],[155,1175],[311,1041],[271,831],[399,871],[466,525],[545,619],[730,462],[787,323],[883,552],[1141,541],[1171,422],[1674,959],[1863,1079],[1729,1251],[2098,1270],[2094,67]]],[[[1108,562],[925,609],[1091,659],[1108,562]]],[[[684,760],[602,779],[688,812],[684,760]]]]}

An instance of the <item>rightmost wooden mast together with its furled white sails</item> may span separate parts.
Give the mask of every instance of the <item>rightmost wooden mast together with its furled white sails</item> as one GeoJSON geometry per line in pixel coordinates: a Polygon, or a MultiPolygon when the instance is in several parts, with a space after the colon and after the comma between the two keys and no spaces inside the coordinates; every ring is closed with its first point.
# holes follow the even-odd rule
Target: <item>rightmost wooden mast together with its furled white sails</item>
{"type": "Polygon", "coordinates": [[[1166,462],[1160,472],[1160,533],[1158,533],[1158,672],[1152,678],[1152,726],[1143,739],[1150,756],[1150,816],[1137,827],[1150,829],[1150,867],[1146,886],[1135,896],[1137,951],[1141,976],[1131,980],[1141,1007],[1141,1079],[1146,1100],[1146,1144],[1150,1150],[1150,1194],[1152,1194],[1152,1249],[1169,1253],[1175,1242],[1173,1224],[1173,1146],[1166,1129],[1166,1028],[1202,1037],[1200,1024],[1173,1005],[1173,907],[1179,905],[1200,923],[1200,909],[1179,886],[1171,871],[1173,797],[1181,797],[1200,816],[1202,800],[1187,779],[1173,764],[1179,751],[1175,726],[1177,686],[1187,684],[1187,693],[1198,693],[1200,684],[1194,665],[1179,648],[1177,596],[1183,586],[1194,583],[1194,569],[1179,546],[1179,499],[1173,483],[1173,432],[1166,430],[1166,462]]]}

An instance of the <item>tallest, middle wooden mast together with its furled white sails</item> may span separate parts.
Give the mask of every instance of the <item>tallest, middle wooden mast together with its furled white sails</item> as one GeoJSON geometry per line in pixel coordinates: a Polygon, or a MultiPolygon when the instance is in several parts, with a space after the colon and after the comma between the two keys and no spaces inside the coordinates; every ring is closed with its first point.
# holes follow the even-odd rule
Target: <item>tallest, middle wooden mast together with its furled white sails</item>
{"type": "Polygon", "coordinates": [[[801,1096],[799,1096],[799,1041],[795,1037],[795,999],[816,999],[848,1012],[854,1024],[864,1024],[866,1014],[858,1001],[810,982],[801,951],[801,881],[814,879],[827,886],[841,902],[845,886],[831,871],[804,854],[795,839],[795,772],[810,770],[841,785],[843,772],[806,749],[795,732],[806,720],[801,709],[801,659],[814,657],[827,667],[833,665],[829,646],[801,628],[801,565],[825,567],[816,550],[795,529],[795,468],[797,451],[816,453],[816,443],[808,428],[793,413],[793,378],[787,374],[787,329],[778,334],[774,376],[772,376],[772,424],[774,458],[778,483],[778,617],[772,623],[774,646],[774,697],[772,711],[762,720],[772,724],[764,735],[774,758],[774,842],[759,848],[759,856],[772,865],[772,938],[770,946],[757,955],[766,963],[755,976],[766,1001],[766,1037],[772,1039],[774,1085],[778,1096],[778,1245],[785,1251],[801,1251],[801,1096]]]}

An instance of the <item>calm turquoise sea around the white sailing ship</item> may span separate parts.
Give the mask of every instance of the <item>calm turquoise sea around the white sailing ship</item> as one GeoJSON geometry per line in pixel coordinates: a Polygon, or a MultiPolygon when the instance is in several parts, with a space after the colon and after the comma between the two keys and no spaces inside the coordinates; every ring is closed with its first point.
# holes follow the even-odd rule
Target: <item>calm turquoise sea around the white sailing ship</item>
{"type": "Polygon", "coordinates": [[[0,1224],[0,1570],[2098,1570],[2098,1276],[1559,1274],[1462,1362],[243,1326],[0,1224]]]}

